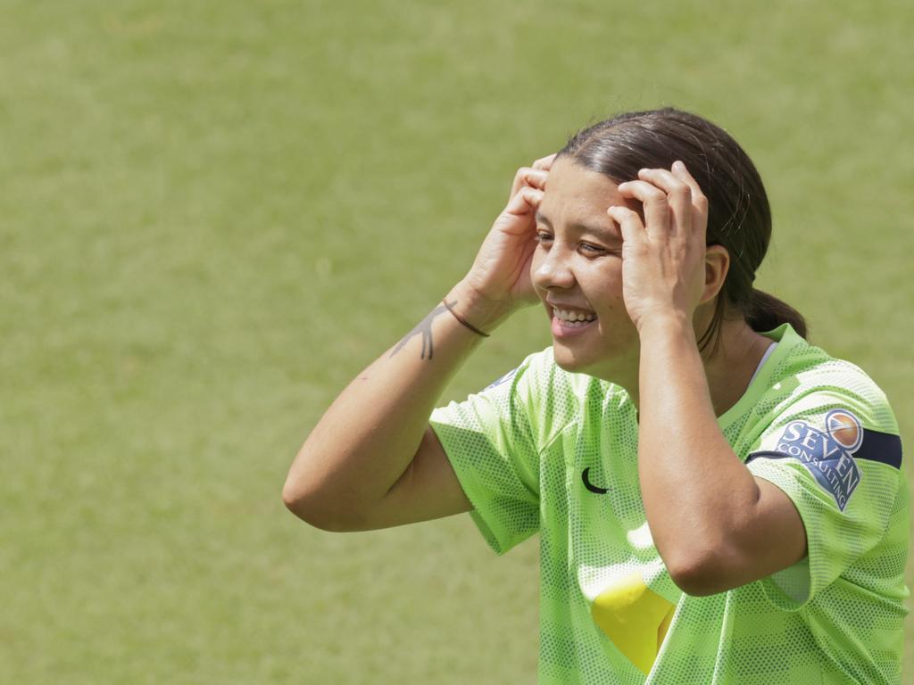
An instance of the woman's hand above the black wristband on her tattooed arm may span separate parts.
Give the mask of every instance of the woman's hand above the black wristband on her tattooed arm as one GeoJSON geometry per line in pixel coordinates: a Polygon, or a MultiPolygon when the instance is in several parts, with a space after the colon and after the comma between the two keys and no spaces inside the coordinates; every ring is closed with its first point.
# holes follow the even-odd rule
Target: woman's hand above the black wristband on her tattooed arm
{"type": "Polygon", "coordinates": [[[473,299],[473,312],[465,315],[474,317],[485,331],[537,301],[530,281],[530,261],[537,248],[535,215],[555,158],[550,154],[517,170],[508,204],[462,280],[462,289],[469,289],[473,299]]]}

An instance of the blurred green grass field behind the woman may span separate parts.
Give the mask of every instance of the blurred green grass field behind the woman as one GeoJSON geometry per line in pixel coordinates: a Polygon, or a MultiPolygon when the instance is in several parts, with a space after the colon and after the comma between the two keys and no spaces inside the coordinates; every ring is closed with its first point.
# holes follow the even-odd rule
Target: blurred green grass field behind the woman
{"type": "MultiPolygon", "coordinates": [[[[535,541],[280,494],[515,167],[614,111],[746,147],[760,287],[914,440],[914,5],[836,6],[0,0],[0,682],[534,681],[535,541]]],[[[447,398],[547,341],[517,317],[447,398]]]]}

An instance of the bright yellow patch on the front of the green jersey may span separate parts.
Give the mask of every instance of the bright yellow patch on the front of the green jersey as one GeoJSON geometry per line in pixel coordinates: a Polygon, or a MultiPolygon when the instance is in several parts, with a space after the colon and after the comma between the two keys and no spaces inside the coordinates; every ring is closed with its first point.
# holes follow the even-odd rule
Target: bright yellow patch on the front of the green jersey
{"type": "Polygon", "coordinates": [[[675,605],[644,585],[638,571],[614,581],[590,606],[594,622],[645,675],[654,665],[674,612],[675,605]]]}

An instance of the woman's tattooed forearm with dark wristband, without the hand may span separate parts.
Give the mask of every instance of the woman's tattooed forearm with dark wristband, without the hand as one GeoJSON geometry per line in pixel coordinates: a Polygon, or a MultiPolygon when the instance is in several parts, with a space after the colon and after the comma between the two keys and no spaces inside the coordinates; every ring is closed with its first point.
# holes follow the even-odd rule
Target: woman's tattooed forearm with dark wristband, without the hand
{"type": "MultiPolygon", "coordinates": [[[[446,299],[474,325],[494,326],[462,284],[446,299]]],[[[409,468],[444,387],[483,340],[436,306],[327,409],[292,464],[287,503],[353,511],[381,501],[409,468]]]]}

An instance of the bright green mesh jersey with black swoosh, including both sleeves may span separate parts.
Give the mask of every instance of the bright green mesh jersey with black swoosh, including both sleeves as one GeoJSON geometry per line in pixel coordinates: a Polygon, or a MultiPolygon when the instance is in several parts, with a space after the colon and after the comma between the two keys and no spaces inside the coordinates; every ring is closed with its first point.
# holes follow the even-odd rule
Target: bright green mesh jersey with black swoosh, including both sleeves
{"type": "Polygon", "coordinates": [[[494,551],[540,534],[539,683],[901,682],[909,502],[895,417],[854,364],[787,324],[765,335],[780,343],[718,424],[791,498],[808,555],[717,595],[682,593],[654,547],[622,387],[561,370],[547,349],[432,413],[494,551]]]}

